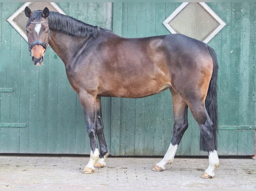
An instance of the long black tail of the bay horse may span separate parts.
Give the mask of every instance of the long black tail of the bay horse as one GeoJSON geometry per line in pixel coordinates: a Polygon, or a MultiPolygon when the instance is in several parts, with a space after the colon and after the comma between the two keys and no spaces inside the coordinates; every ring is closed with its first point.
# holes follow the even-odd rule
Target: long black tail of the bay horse
{"type": "MultiPolygon", "coordinates": [[[[215,143],[215,147],[217,149],[217,128],[218,128],[217,77],[218,77],[219,65],[218,65],[216,53],[213,50],[213,48],[208,46],[208,49],[209,49],[211,57],[213,58],[213,74],[212,74],[212,78],[211,78],[211,81],[209,84],[207,96],[205,99],[205,106],[206,106],[208,115],[213,122],[214,143],[215,143]]],[[[202,133],[200,136],[200,149],[207,151],[206,140],[203,137],[202,133]]]]}

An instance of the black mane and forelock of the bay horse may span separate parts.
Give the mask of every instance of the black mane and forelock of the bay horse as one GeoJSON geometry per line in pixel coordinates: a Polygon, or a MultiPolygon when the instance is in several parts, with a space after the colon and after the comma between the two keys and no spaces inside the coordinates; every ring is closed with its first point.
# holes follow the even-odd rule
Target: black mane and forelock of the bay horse
{"type": "MultiPolygon", "coordinates": [[[[28,22],[40,21],[42,18],[42,11],[34,11],[28,22]]],[[[74,19],[70,16],[60,14],[58,12],[50,11],[47,17],[49,29],[58,30],[64,33],[68,33],[72,36],[78,37],[97,37],[100,27],[86,24],[82,21],[74,19]]],[[[104,30],[104,29],[103,29],[104,30]]]]}

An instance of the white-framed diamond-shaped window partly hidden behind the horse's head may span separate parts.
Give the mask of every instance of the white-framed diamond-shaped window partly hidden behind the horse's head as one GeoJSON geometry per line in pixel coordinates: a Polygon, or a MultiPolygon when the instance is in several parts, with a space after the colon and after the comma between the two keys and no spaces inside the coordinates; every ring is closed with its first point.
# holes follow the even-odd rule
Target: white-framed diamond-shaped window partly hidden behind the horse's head
{"type": "MultiPolygon", "coordinates": [[[[50,2],[28,2],[22,5],[15,13],[13,13],[10,18],[7,19],[7,21],[18,31],[18,33],[27,41],[27,36],[25,32],[25,27],[27,24],[28,18],[25,15],[25,8],[28,6],[32,11],[35,10],[43,10],[45,7],[47,7],[50,11],[59,12],[61,14],[64,14],[64,11],[62,11],[56,3],[50,3],[50,2]]],[[[27,41],[28,42],[28,41],[27,41]]]]}

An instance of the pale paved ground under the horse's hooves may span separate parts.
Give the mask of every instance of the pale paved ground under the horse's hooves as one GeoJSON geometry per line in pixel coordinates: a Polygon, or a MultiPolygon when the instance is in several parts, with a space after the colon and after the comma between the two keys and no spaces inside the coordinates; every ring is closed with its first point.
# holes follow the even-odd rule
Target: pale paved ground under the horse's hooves
{"type": "Polygon", "coordinates": [[[205,157],[175,157],[163,172],[162,157],[113,157],[104,168],[82,174],[89,156],[0,155],[0,188],[256,188],[256,161],[220,157],[213,179],[203,179],[205,157]]]}

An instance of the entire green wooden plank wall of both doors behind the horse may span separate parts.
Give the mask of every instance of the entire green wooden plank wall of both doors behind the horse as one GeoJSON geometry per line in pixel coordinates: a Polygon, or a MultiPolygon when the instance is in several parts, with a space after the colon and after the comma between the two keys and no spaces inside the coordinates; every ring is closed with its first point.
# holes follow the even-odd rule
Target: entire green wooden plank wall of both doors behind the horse
{"type": "MultiPolygon", "coordinates": [[[[83,111],[64,64],[49,48],[44,65],[33,66],[27,42],[7,22],[23,4],[0,3],[0,153],[89,154],[83,111]]],[[[180,4],[57,3],[67,15],[124,37],[169,34],[162,22],[180,4]]],[[[220,65],[219,154],[254,155],[256,3],[207,4],[227,23],[208,43],[220,65]]],[[[105,97],[102,109],[110,154],[166,152],[173,126],[169,91],[138,99],[105,97]]],[[[188,119],[177,155],[206,155],[190,113],[188,119]]]]}

